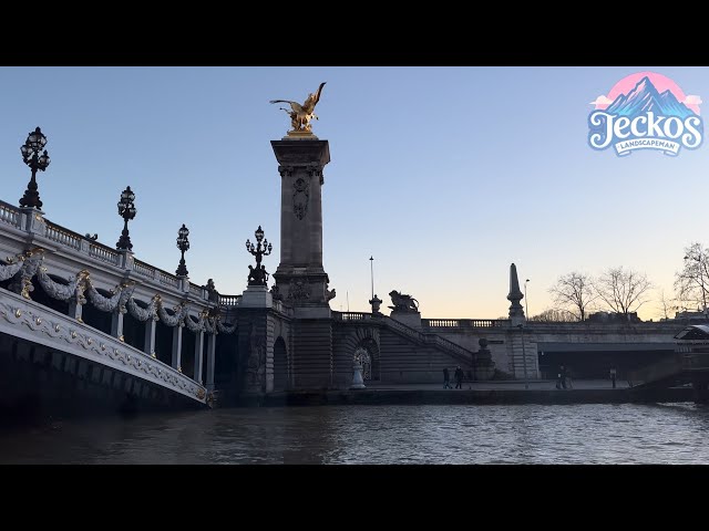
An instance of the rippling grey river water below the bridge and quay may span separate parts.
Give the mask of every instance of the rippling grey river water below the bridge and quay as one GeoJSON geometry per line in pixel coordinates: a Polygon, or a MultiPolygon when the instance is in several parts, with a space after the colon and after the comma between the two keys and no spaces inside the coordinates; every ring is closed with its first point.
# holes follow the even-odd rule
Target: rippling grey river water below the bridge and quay
{"type": "Polygon", "coordinates": [[[693,404],[235,408],[0,435],[2,464],[707,464],[693,404]]]}

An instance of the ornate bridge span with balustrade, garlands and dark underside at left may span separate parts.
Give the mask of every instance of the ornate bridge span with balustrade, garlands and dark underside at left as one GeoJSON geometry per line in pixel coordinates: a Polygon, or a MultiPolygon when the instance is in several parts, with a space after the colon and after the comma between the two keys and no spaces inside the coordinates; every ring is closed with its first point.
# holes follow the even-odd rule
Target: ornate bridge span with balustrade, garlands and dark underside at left
{"type": "Polygon", "coordinates": [[[43,214],[0,201],[0,408],[207,406],[239,298],[43,214]]]}

